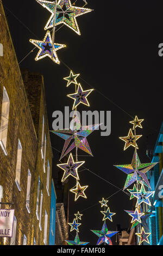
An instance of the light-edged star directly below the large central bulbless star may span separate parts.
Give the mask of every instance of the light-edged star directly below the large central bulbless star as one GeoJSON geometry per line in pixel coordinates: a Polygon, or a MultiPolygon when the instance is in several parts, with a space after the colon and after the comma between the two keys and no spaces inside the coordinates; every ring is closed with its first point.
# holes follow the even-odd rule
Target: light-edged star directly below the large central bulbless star
{"type": "Polygon", "coordinates": [[[68,178],[70,175],[79,180],[78,168],[84,163],[85,161],[75,163],[73,160],[72,153],[70,153],[70,156],[68,157],[68,161],[66,164],[57,164],[59,168],[64,170],[64,175],[61,179],[61,182],[64,182],[66,178],[68,178]]]}

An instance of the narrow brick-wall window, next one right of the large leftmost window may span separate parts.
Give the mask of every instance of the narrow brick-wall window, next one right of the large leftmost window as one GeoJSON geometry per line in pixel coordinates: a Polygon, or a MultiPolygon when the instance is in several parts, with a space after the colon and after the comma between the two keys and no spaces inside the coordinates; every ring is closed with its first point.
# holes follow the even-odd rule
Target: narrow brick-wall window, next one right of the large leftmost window
{"type": "Polygon", "coordinates": [[[19,191],[21,191],[21,187],[20,187],[21,163],[22,163],[22,145],[20,140],[18,139],[15,182],[19,191]]]}

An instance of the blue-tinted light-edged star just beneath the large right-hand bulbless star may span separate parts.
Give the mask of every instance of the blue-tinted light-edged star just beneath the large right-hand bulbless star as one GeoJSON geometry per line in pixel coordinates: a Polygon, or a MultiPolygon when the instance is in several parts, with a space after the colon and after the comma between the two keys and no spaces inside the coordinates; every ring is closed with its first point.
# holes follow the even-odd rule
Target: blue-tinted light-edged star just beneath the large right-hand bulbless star
{"type": "Polygon", "coordinates": [[[149,201],[149,197],[154,194],[154,191],[148,191],[146,192],[145,187],[143,184],[141,185],[141,188],[138,192],[132,192],[132,195],[137,198],[136,207],[142,203],[145,203],[149,206],[151,206],[151,202],[149,201]]]}

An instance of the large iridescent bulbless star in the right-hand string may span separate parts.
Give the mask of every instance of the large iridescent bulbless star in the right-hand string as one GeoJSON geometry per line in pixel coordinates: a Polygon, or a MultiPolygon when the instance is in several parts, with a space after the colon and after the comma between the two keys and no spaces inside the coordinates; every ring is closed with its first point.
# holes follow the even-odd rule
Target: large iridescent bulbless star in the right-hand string
{"type": "Polygon", "coordinates": [[[127,174],[127,179],[123,190],[129,187],[135,181],[145,184],[147,187],[151,188],[146,176],[146,172],[151,170],[155,164],[157,163],[141,164],[138,154],[134,152],[131,164],[115,165],[118,169],[127,174]]]}

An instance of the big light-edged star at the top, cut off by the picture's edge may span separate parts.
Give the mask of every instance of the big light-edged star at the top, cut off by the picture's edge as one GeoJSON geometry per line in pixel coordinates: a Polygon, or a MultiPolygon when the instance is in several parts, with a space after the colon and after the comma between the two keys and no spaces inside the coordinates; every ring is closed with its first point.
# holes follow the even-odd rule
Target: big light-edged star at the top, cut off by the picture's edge
{"type": "MultiPolygon", "coordinates": [[[[54,8],[55,2],[37,0],[44,8],[51,12],[51,17],[49,18],[45,30],[52,28],[54,23],[54,8]]],[[[80,30],[76,17],[89,13],[91,9],[81,8],[72,6],[70,0],[59,0],[57,3],[57,12],[56,12],[56,21],[55,26],[59,24],[64,24],[67,27],[71,28],[74,32],[80,35],[80,30]]]]}

